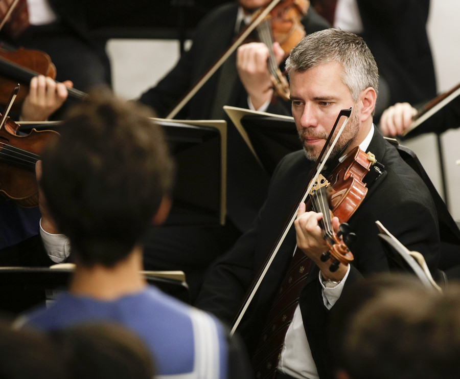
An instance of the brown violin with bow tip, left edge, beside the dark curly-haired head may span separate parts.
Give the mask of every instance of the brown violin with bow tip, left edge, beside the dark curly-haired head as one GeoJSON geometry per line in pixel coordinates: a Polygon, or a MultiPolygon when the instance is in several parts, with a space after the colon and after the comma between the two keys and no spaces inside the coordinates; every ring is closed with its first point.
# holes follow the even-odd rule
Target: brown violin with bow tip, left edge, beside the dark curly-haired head
{"type": "MultiPolygon", "coordinates": [[[[8,110],[19,88],[11,95],[8,110]]],[[[13,200],[21,207],[38,206],[38,185],[35,177],[35,163],[40,154],[59,133],[54,130],[35,128],[27,136],[18,136],[19,124],[7,115],[0,120],[0,194],[13,200]]]]}

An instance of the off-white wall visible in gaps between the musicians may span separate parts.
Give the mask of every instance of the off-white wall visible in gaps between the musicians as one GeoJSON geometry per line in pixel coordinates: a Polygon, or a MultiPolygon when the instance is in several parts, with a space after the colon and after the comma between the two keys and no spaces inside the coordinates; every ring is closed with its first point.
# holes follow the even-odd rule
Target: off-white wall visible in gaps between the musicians
{"type": "MultiPolygon", "coordinates": [[[[431,0],[428,34],[435,64],[438,92],[460,83],[460,1],[431,0]]],[[[154,85],[175,64],[179,44],[171,40],[112,39],[108,43],[112,61],[113,89],[128,99],[154,85]]],[[[434,135],[425,135],[404,142],[415,151],[443,195],[439,155],[434,135]]],[[[442,136],[444,150],[447,202],[454,219],[460,220],[460,129],[442,136]]]]}

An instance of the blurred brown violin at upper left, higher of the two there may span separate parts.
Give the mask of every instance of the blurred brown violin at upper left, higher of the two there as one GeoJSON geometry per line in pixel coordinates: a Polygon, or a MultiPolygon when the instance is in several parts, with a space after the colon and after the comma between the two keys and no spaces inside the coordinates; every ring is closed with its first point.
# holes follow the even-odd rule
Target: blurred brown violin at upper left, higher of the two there
{"type": "MultiPolygon", "coordinates": [[[[0,49],[0,104],[6,104],[11,91],[21,84],[15,104],[19,105],[29,94],[29,83],[34,76],[56,78],[56,67],[48,54],[39,50],[19,48],[14,51],[0,49]]],[[[84,99],[87,95],[67,87],[69,96],[84,99]]]]}

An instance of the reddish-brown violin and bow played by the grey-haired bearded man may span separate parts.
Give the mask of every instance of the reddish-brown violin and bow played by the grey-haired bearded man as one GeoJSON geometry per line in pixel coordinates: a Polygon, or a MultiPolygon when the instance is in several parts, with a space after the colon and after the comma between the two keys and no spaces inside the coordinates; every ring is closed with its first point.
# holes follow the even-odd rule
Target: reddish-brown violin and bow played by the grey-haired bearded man
{"type": "MultiPolygon", "coordinates": [[[[316,203],[323,204],[324,207],[318,207],[316,208],[316,211],[323,212],[323,218],[326,220],[328,219],[328,215],[330,214],[329,209],[337,213],[336,216],[339,217],[340,222],[347,221],[353,215],[353,213],[356,211],[356,209],[359,207],[362,200],[364,199],[365,194],[367,193],[367,188],[365,184],[362,183],[362,178],[367,172],[369,172],[370,166],[376,163],[375,159],[372,158],[372,154],[368,158],[368,156],[365,153],[362,153],[358,148],[356,150],[352,150],[352,152],[349,153],[346,159],[343,161],[343,164],[338,165],[336,169],[333,170],[331,175],[328,175],[326,179],[329,182],[329,185],[325,183],[325,178],[319,175],[323,170],[326,162],[328,161],[331,151],[333,150],[336,142],[338,141],[341,132],[346,127],[351,115],[351,111],[352,108],[342,109],[340,111],[335,121],[335,124],[332,127],[331,132],[329,133],[326,143],[323,149],[321,150],[321,153],[319,154],[319,157],[316,160],[313,169],[310,172],[309,178],[306,181],[306,188],[304,188],[304,191],[302,191],[302,196],[300,197],[300,199],[298,199],[298,201],[295,203],[296,205],[298,205],[301,202],[308,203],[311,201],[312,203],[315,203],[315,206],[316,203]],[[338,132],[336,133],[333,142],[330,144],[337,124],[342,116],[345,116],[346,120],[342,123],[338,132]],[[329,149],[328,146],[330,146],[329,149]],[[318,190],[313,189],[313,186],[315,185],[318,190]],[[326,188],[330,189],[325,191],[326,188]],[[320,196],[315,195],[312,197],[312,200],[309,199],[307,201],[307,197],[310,195],[310,193],[320,193],[320,196]]],[[[262,283],[265,274],[267,273],[273,259],[277,255],[282,243],[284,242],[286,235],[291,229],[296,215],[297,206],[291,211],[290,219],[286,222],[286,225],[282,233],[275,242],[274,248],[268,254],[259,273],[256,275],[254,281],[249,286],[246,297],[242,302],[240,308],[238,309],[236,317],[232,323],[231,334],[233,334],[235,330],[238,328],[241,320],[243,319],[246,313],[246,310],[249,307],[250,302],[252,301],[252,299],[254,299],[254,296],[258,291],[258,288],[260,287],[260,284],[262,283]]],[[[342,246],[342,241],[339,240],[339,238],[341,237],[340,235],[336,236],[337,239],[334,238],[334,231],[332,230],[332,227],[330,225],[328,225],[326,229],[326,233],[324,234],[326,237],[326,241],[328,243],[330,243],[330,241],[333,241],[333,243],[330,243],[331,246],[332,244],[338,244],[338,249],[330,248],[329,254],[331,255],[326,253],[324,257],[321,256],[321,260],[327,261],[328,259],[331,259],[332,270],[336,270],[338,265],[340,264],[336,261],[342,262],[343,264],[348,264],[348,262],[350,262],[353,259],[353,255],[349,252],[348,248],[342,246]],[[329,238],[329,236],[331,238],[329,238]]],[[[346,227],[344,229],[342,228],[340,233],[344,233],[345,229],[346,227]]]]}

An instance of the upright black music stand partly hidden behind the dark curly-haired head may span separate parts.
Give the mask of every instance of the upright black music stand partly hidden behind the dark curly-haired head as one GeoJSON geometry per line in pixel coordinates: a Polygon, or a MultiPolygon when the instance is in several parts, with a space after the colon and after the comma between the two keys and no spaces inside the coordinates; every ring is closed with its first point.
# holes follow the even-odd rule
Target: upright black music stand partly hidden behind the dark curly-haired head
{"type": "MultiPolygon", "coordinates": [[[[171,212],[163,224],[223,225],[226,213],[227,127],[223,120],[153,119],[162,125],[176,162],[171,212]]],[[[22,122],[20,130],[53,129],[60,122],[22,122]]]]}

